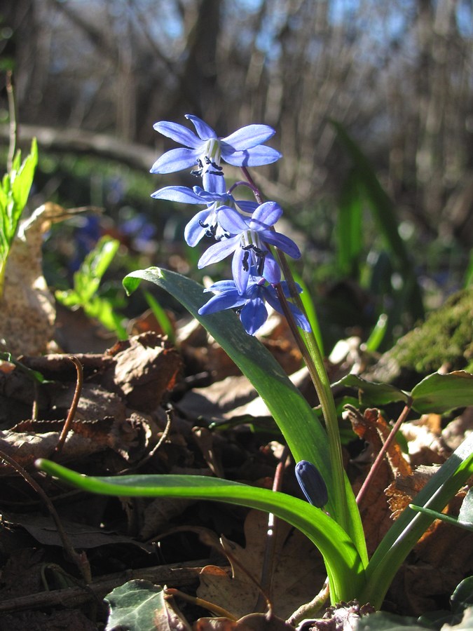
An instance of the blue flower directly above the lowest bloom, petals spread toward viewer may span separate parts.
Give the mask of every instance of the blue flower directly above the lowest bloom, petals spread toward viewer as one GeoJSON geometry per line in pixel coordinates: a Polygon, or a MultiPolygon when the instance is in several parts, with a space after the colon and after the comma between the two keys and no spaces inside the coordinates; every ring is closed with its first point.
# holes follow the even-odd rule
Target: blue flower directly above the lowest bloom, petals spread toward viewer
{"type": "Polygon", "coordinates": [[[228,238],[211,245],[200,257],[198,268],[217,263],[234,252],[232,275],[240,294],[247,288],[252,266],[256,268],[256,276],[263,276],[273,285],[279,283],[281,271],[266,244],[275,245],[293,259],[301,256],[293,240],[272,229],[281,215],[282,208],[273,201],[259,205],[252,217],[242,217],[236,210],[228,208],[219,216],[219,223],[228,238]]]}

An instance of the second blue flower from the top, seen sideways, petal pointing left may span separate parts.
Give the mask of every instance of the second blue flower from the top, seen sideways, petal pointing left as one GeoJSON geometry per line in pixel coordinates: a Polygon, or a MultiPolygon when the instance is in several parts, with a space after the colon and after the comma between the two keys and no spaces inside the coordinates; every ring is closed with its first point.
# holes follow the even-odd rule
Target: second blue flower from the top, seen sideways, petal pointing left
{"type": "Polygon", "coordinates": [[[254,201],[235,201],[229,193],[209,193],[200,186],[188,189],[186,186],[165,186],[153,193],[155,199],[167,199],[188,204],[205,204],[207,210],[200,210],[184,229],[184,238],[187,245],[197,245],[204,236],[214,237],[217,240],[228,236],[221,227],[219,216],[229,208],[238,206],[243,212],[254,212],[258,204],[254,201]]]}

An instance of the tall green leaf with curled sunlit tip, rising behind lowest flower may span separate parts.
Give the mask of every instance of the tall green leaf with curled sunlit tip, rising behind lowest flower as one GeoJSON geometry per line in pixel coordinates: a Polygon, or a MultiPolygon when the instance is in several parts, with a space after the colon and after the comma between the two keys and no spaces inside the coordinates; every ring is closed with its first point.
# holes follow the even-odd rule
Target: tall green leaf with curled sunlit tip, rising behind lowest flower
{"type": "MultiPolygon", "coordinates": [[[[141,280],[151,281],[179,300],[247,376],[273,415],[294,460],[308,460],[320,470],[329,489],[327,511],[337,520],[338,507],[333,499],[335,493],[327,449],[327,433],[313,409],[289,380],[273,355],[257,339],[245,332],[233,311],[199,315],[198,309],[205,303],[206,297],[203,294],[203,287],[193,280],[172,271],[150,267],[125,276],[123,285],[128,294],[139,286],[141,280]]],[[[368,559],[362,522],[346,477],[345,495],[350,506],[348,534],[366,564],[368,559]]]]}

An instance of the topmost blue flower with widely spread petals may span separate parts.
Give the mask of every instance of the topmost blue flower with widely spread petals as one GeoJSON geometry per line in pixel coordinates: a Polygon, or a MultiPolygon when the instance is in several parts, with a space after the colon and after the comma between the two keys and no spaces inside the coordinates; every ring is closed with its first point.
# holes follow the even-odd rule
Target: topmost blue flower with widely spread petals
{"type": "Polygon", "coordinates": [[[224,193],[222,160],[235,166],[259,166],[271,164],[282,157],[279,151],[263,144],[275,133],[269,125],[247,125],[229,136],[219,138],[197,116],[186,114],[186,118],[193,123],[197,135],[178,123],[160,121],[153,125],[156,131],[184,147],[166,151],[153,164],[151,173],[173,173],[197,165],[191,172],[193,175],[202,175],[204,189],[212,193],[224,193]]]}

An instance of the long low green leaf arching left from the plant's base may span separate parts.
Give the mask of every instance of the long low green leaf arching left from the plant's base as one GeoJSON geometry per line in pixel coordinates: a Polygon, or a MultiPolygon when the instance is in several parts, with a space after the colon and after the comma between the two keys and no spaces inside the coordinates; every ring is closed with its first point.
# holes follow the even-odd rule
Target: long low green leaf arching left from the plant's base
{"type": "Polygon", "coordinates": [[[322,553],[331,577],[334,602],[356,597],[364,581],[357,549],[346,532],[320,508],[277,491],[203,475],[123,475],[86,477],[48,460],[36,465],[74,487],[113,496],[178,497],[221,501],[273,513],[310,538],[322,553]]]}

